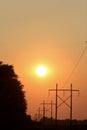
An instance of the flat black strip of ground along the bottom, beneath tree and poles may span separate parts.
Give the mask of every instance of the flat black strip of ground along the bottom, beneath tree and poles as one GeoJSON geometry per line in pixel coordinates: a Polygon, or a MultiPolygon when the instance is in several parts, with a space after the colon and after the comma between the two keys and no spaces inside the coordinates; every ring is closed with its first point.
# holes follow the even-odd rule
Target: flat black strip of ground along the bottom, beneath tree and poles
{"type": "Polygon", "coordinates": [[[70,124],[69,120],[58,120],[57,124],[55,122],[37,122],[32,121],[31,123],[27,123],[20,126],[12,125],[11,123],[8,125],[0,124],[0,130],[87,130],[87,120],[84,121],[72,121],[70,124]]]}

